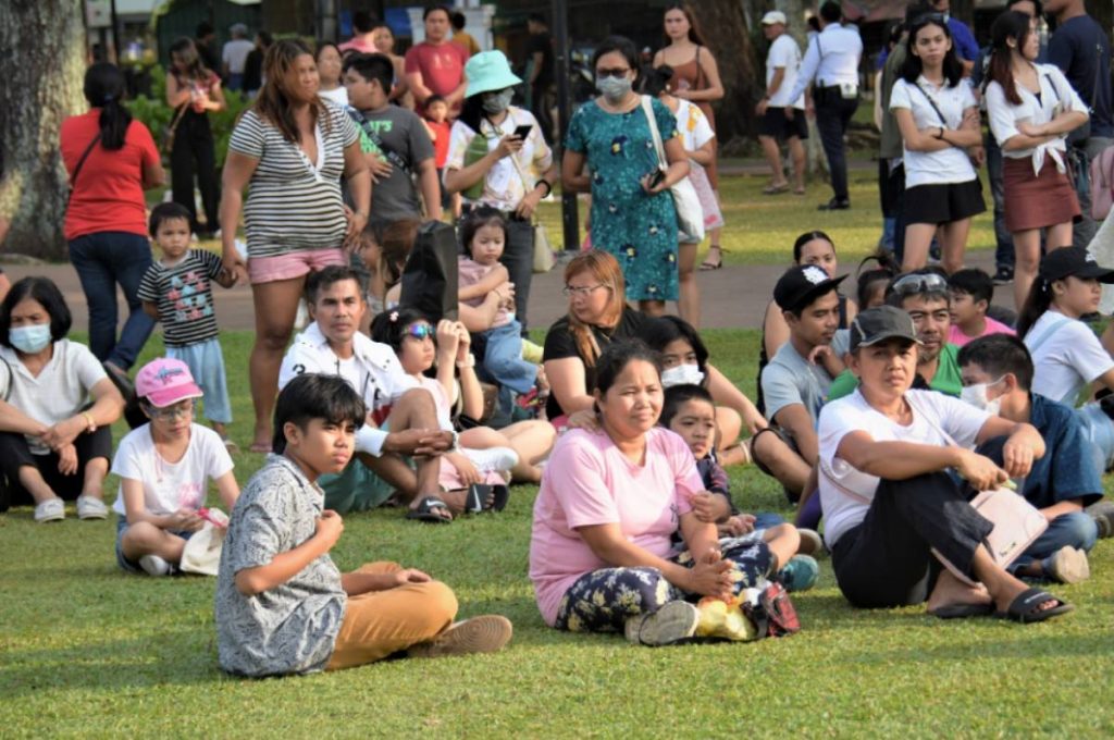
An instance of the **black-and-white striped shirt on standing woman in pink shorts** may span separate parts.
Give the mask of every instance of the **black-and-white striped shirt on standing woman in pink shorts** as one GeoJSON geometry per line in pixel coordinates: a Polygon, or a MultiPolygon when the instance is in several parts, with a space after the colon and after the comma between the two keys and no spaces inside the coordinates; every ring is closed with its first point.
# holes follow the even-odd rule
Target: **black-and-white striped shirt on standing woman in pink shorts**
{"type": "Polygon", "coordinates": [[[316,162],[255,110],[236,124],[228,149],[258,159],[244,206],[248,257],[339,249],[344,241],[344,148],[359,133],[339,106],[322,101],[322,114],[316,162]]]}

